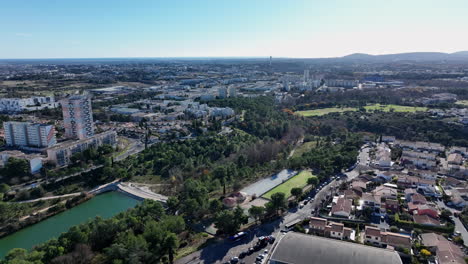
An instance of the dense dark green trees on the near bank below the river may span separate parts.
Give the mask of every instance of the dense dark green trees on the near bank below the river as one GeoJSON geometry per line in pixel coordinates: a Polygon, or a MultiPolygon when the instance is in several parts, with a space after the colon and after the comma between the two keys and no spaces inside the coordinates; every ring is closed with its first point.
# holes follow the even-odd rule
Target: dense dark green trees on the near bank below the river
{"type": "Polygon", "coordinates": [[[172,263],[185,229],[183,218],[145,201],[111,219],[74,226],[30,252],[13,249],[0,263],[172,263]]]}

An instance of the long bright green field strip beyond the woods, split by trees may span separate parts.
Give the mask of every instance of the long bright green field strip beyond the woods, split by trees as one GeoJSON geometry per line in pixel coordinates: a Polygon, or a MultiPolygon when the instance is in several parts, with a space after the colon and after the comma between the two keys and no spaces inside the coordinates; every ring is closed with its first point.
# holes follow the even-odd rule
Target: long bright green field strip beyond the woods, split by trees
{"type": "MultiPolygon", "coordinates": [[[[415,107],[415,106],[403,106],[403,105],[380,105],[380,104],[372,104],[364,106],[366,111],[383,111],[383,112],[417,112],[417,111],[427,111],[426,107],[415,107]]],[[[342,113],[347,111],[357,111],[358,108],[356,107],[331,107],[331,108],[323,108],[323,109],[315,109],[315,110],[305,110],[305,111],[297,111],[296,113],[302,116],[323,116],[330,113],[342,113]]]]}

